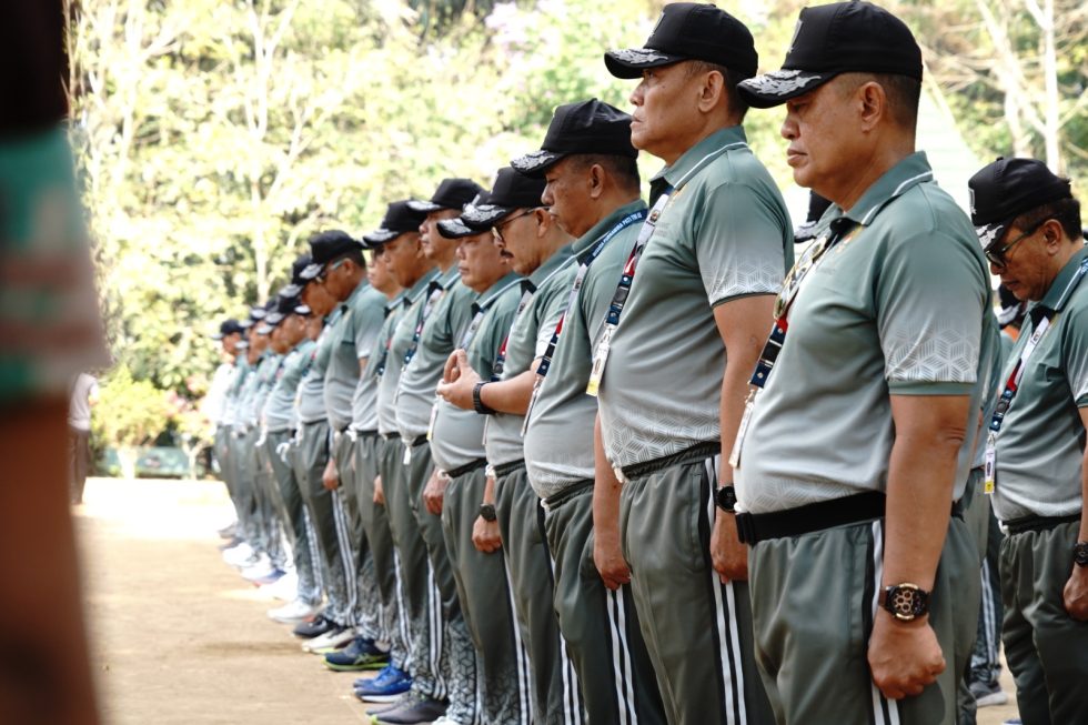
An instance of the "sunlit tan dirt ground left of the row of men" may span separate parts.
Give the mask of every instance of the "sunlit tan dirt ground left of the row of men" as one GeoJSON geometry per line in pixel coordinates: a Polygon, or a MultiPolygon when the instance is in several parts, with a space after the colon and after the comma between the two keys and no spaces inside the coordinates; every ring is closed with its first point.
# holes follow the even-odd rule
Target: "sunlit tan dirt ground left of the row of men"
{"type": "MultiPolygon", "coordinates": [[[[92,479],[84,499],[75,518],[107,723],[366,722],[355,675],[304,654],[265,616],[279,603],[222,563],[215,528],[231,508],[221,484],[92,479]]],[[[978,723],[1015,715],[987,707],[978,723]]]]}

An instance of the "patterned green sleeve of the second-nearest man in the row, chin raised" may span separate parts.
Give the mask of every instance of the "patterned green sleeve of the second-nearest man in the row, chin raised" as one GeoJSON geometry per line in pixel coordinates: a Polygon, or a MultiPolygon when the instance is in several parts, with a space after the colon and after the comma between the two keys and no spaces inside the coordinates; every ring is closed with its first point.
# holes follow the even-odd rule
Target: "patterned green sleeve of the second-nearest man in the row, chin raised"
{"type": "Polygon", "coordinates": [[[777,294],[786,273],[779,211],[742,183],[715,187],[702,211],[695,254],[711,305],[752,294],[777,294]]]}

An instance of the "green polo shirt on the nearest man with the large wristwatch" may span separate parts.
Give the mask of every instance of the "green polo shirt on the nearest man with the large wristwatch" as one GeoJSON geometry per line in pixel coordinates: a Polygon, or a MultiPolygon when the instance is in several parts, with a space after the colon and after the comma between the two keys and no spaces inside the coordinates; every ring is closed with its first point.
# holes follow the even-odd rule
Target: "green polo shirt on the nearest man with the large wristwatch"
{"type": "MultiPolygon", "coordinates": [[[[970,221],[924,153],[888,170],[844,212],[848,231],[805,278],[759,394],[736,471],[738,510],[764,513],[885,491],[890,395],[983,404],[997,354],[989,273],[970,221]]],[[[837,225],[838,225],[837,224],[837,225]]],[[[978,426],[967,426],[973,450],[978,426]]],[[[959,457],[954,497],[970,454],[959,457]]]]}

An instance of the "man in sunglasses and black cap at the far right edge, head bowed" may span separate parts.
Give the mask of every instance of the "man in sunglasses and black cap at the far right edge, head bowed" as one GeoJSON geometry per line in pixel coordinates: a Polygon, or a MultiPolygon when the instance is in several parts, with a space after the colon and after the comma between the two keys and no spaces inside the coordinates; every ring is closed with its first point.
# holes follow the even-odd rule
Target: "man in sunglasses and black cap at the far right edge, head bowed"
{"type": "Polygon", "coordinates": [[[1032,303],[988,421],[1005,657],[1025,723],[1088,722],[1088,250],[1068,179],[998,159],[968,182],[990,271],[1032,303]]]}

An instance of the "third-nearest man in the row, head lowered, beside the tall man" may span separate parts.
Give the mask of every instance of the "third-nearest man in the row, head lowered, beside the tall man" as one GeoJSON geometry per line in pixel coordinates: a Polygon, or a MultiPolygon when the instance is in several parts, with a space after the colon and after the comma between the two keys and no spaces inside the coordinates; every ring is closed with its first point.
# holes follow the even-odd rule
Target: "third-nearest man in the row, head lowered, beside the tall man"
{"type": "Polygon", "coordinates": [[[554,560],[555,613],[580,684],[573,693],[563,692],[562,712],[570,711],[573,696],[574,706],[584,707],[592,723],[628,717],[661,723],[665,713],[631,586],[615,578],[587,577],[584,571],[595,548],[597,405],[585,394],[591,345],[646,218],[646,204],[638,198],[638,152],[631,145],[631,117],[596,99],[561,105],[544,150],[553,154],[550,163],[536,163],[536,153],[514,159],[511,165],[544,180],[542,203],[561,229],[577,238],[572,246],[577,271],[566,293],[563,320],[538,351],[541,362],[534,361],[538,382],[534,381],[524,437],[528,482],[543,502],[554,560]],[[575,130],[574,138],[562,128],[575,130]],[[601,148],[610,152],[600,153],[601,148]]]}

